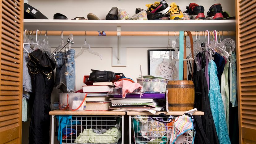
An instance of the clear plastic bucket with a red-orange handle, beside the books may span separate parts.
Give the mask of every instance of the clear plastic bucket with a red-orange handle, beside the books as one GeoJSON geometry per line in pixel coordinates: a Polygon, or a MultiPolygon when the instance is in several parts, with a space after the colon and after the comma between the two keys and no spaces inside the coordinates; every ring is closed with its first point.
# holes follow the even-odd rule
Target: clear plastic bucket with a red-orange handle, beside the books
{"type": "Polygon", "coordinates": [[[68,93],[68,108],[70,111],[85,110],[87,93],[68,93]]]}

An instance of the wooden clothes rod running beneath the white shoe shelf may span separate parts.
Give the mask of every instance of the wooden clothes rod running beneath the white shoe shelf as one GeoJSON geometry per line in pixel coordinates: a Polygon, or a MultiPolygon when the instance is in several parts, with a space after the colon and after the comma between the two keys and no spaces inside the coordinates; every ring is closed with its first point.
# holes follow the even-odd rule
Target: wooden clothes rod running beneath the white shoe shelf
{"type": "MultiPolygon", "coordinates": [[[[38,31],[37,35],[45,35],[46,31],[38,31]]],[[[74,36],[99,36],[99,32],[97,31],[63,31],[63,36],[68,36],[70,34],[73,34],[74,36]]],[[[235,36],[235,31],[219,31],[220,36],[235,36]]],[[[62,31],[47,31],[48,36],[61,36],[62,31]]],[[[105,31],[106,36],[117,36],[116,31],[105,31]]],[[[191,32],[192,36],[198,36],[198,32],[191,32]]],[[[167,31],[167,32],[130,32],[130,31],[121,31],[121,36],[179,36],[180,32],[174,32],[174,31],[167,31]]],[[[36,35],[36,31],[30,31],[30,35],[36,35]]],[[[188,33],[184,33],[185,36],[188,36],[188,33]]],[[[208,36],[207,32],[200,31],[199,36],[208,36]]],[[[210,35],[213,36],[214,32],[210,31],[210,35]]],[[[217,32],[217,35],[219,36],[219,33],[217,32]]]]}

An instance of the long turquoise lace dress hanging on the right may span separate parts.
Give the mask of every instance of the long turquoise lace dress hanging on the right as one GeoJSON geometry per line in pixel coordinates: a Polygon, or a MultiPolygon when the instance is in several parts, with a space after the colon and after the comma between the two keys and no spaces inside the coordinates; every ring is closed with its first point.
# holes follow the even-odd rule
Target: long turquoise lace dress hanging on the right
{"type": "Polygon", "coordinates": [[[208,73],[210,76],[209,100],[212,117],[220,144],[230,144],[224,105],[220,94],[220,85],[217,77],[217,66],[214,61],[209,62],[208,73]]]}

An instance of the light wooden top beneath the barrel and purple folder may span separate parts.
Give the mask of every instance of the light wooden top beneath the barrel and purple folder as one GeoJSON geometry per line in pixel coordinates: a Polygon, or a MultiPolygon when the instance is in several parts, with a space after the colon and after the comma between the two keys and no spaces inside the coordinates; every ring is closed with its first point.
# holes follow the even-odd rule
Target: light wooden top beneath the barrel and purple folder
{"type": "MultiPolygon", "coordinates": [[[[181,116],[185,113],[185,111],[156,112],[156,114],[154,114],[154,115],[159,115],[160,113],[164,113],[168,116],[169,115],[181,116]]],[[[135,116],[135,115],[147,116],[147,115],[153,115],[153,114],[150,113],[150,112],[127,112],[127,115],[129,115],[129,116],[135,116]]],[[[204,112],[196,111],[196,112],[193,113],[193,115],[203,116],[204,112]]]]}

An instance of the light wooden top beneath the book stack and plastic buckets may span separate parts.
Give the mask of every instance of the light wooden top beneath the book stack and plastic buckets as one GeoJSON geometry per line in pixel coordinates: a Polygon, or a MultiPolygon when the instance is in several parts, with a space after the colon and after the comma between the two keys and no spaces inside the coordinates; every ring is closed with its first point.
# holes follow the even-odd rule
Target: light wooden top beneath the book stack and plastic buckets
{"type": "Polygon", "coordinates": [[[49,112],[50,115],[125,115],[121,111],[63,111],[53,110],[49,112]]]}

